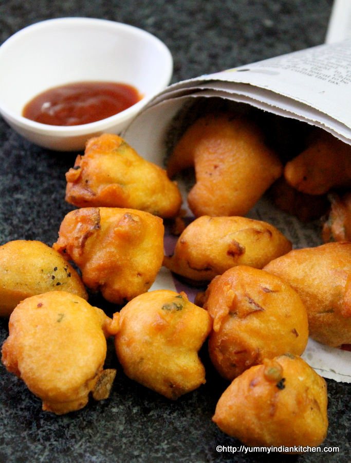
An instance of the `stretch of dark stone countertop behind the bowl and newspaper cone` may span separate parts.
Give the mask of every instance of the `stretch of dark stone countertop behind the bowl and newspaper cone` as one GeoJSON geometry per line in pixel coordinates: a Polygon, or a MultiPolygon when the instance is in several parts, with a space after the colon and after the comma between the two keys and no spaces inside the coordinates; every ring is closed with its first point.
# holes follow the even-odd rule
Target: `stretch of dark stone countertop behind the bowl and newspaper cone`
{"type": "Polygon", "coordinates": [[[0,40],[29,24],[65,16],[120,21],[161,39],[173,82],[323,43],[332,0],[0,1],[0,40]]]}

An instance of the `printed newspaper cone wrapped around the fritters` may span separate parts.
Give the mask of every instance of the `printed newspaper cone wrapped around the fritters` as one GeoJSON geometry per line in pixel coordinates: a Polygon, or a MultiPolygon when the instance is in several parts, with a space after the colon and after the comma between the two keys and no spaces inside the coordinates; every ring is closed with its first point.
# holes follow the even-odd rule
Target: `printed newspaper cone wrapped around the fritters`
{"type": "MultiPolygon", "coordinates": [[[[174,118],[196,98],[220,97],[320,127],[351,145],[351,40],[321,45],[216,74],[179,82],[156,96],[122,136],[144,158],[164,165],[167,134],[174,118]]],[[[184,205],[186,188],[183,185],[184,205]]],[[[188,215],[191,212],[188,209],[188,215]]],[[[271,223],[294,248],[322,244],[316,223],[303,225],[262,198],[248,217],[271,223]]],[[[165,237],[171,254],[176,238],[165,237]],[[172,247],[173,246],[173,247],[172,247]]],[[[162,268],[152,289],[185,291],[193,300],[196,289],[186,287],[162,268]]],[[[351,382],[351,352],[309,340],[302,356],[326,378],[351,382]]]]}

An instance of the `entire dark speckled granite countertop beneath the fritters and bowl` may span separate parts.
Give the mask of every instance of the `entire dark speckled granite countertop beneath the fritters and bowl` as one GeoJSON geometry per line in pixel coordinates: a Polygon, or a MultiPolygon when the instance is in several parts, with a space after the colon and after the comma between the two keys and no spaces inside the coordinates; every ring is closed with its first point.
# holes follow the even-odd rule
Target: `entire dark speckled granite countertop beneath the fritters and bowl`
{"type": "MultiPolygon", "coordinates": [[[[331,0],[24,0],[0,1],[0,41],[52,17],[89,16],[146,29],[174,57],[173,82],[323,43],[331,0]]],[[[65,172],[77,153],[36,147],[0,120],[0,244],[36,239],[52,245],[65,213],[65,172]]],[[[101,307],[103,302],[94,301],[101,307]]],[[[0,322],[1,342],[7,320],[0,322]]],[[[212,423],[227,386],[206,351],[207,384],[171,402],[127,379],[109,345],[107,366],[118,375],[108,400],[54,416],[24,383],[0,372],[1,463],[348,462],[351,460],[351,384],[327,380],[329,432],[325,446],[339,453],[270,455],[218,453],[236,446],[212,423]]]]}

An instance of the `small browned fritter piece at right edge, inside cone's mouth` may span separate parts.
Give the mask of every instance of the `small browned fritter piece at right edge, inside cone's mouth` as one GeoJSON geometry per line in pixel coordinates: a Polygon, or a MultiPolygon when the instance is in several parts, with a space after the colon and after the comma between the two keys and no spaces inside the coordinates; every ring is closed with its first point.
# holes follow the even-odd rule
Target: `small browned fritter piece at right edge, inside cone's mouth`
{"type": "Polygon", "coordinates": [[[328,195],[331,202],[329,217],[323,225],[322,238],[325,243],[351,241],[351,192],[340,197],[336,193],[328,195]]]}

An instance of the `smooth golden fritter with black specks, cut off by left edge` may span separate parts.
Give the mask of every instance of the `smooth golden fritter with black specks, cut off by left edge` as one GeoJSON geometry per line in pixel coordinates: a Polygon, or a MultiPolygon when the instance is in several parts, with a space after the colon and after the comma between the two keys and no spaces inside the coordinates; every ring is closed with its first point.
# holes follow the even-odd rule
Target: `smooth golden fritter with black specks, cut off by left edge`
{"type": "Polygon", "coordinates": [[[21,300],[47,291],[67,291],[87,299],[72,266],[40,241],[16,240],[0,246],[0,316],[7,317],[21,300]]]}

